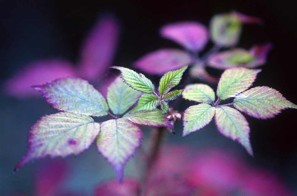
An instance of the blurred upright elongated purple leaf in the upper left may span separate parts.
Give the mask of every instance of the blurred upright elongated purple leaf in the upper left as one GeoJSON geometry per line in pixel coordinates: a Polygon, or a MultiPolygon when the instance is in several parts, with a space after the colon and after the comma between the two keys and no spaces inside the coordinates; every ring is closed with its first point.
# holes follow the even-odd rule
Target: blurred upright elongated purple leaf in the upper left
{"type": "Polygon", "coordinates": [[[119,33],[119,23],[114,16],[99,18],[83,42],[78,76],[96,81],[106,74],[116,51],[119,33]]]}

